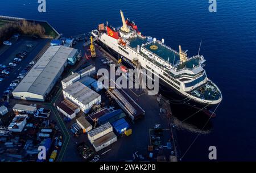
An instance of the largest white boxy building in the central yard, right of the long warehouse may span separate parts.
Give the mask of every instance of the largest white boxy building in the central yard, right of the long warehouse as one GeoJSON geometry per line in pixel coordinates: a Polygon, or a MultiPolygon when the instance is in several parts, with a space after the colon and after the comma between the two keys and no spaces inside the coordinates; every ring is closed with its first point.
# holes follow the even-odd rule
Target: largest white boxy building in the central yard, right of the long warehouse
{"type": "Polygon", "coordinates": [[[73,83],[63,90],[65,99],[71,100],[80,107],[84,113],[88,113],[94,104],[101,103],[101,95],[86,87],[80,81],[73,83]]]}

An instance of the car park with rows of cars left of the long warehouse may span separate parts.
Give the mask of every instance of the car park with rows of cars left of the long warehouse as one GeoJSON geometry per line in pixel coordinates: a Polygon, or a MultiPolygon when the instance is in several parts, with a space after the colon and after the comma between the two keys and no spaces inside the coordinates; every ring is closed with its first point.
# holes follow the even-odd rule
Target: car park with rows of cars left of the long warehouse
{"type": "MultiPolygon", "coordinates": [[[[26,69],[27,65],[30,64],[36,55],[42,50],[48,43],[49,39],[35,39],[28,36],[20,36],[19,39],[10,39],[12,45],[0,45],[0,67],[2,81],[0,82],[0,97],[10,84],[15,81],[20,73],[26,73],[29,68],[26,69]],[[16,57],[21,52],[27,52],[26,56],[16,57]],[[20,58],[20,62],[14,62],[14,58],[20,58]],[[10,66],[10,62],[14,62],[16,66],[10,66]],[[9,74],[3,74],[5,71],[9,71],[9,74]]],[[[15,86],[14,86],[15,87],[15,86]]]]}

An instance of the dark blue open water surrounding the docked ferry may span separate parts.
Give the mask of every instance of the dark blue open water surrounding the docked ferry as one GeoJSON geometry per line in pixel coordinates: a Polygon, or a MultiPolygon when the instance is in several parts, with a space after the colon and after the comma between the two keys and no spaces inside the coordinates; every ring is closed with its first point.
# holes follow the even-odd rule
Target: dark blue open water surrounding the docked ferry
{"type": "MultiPolygon", "coordinates": [[[[167,45],[188,49],[189,56],[207,60],[208,77],[220,87],[223,101],[212,120],[210,134],[197,138],[185,161],[208,161],[208,147],[217,147],[219,161],[256,161],[256,1],[208,0],[84,1],[47,0],[47,12],[37,11],[37,0],[1,0],[0,14],[48,20],[65,36],[89,32],[107,20],[121,26],[119,10],[135,20],[143,35],[165,39],[167,45]]],[[[179,132],[181,154],[196,134],[179,132]]]]}

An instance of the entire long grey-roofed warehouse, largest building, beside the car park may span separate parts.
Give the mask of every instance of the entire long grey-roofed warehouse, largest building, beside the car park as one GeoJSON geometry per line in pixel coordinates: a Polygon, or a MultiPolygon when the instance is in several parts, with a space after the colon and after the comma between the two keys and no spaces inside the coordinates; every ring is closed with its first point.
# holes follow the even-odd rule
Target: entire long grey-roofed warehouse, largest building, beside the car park
{"type": "Polygon", "coordinates": [[[12,92],[13,97],[44,102],[68,65],[68,60],[74,60],[76,56],[77,49],[64,46],[49,47],[12,92]]]}

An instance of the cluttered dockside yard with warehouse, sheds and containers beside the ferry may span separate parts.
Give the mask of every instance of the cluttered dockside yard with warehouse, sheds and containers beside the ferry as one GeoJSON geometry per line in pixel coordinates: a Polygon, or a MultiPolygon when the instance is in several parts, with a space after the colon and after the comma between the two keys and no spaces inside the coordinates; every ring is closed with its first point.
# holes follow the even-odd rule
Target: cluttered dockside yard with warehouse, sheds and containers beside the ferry
{"type": "Polygon", "coordinates": [[[158,96],[104,87],[96,71],[109,70],[116,60],[95,43],[96,57],[87,56],[83,40],[53,40],[0,108],[3,159],[42,162],[37,149],[45,146],[49,162],[177,161],[172,125],[159,113],[158,96]]]}

